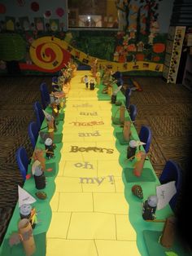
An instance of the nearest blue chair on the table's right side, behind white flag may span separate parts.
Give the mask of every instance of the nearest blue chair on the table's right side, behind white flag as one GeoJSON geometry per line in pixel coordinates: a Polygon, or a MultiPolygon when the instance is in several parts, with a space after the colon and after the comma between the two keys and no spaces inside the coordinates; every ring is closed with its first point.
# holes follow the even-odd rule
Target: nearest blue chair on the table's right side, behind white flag
{"type": "Polygon", "coordinates": [[[169,201],[169,205],[171,206],[173,211],[176,209],[177,197],[181,191],[182,174],[179,166],[177,166],[174,161],[168,160],[164,166],[162,174],[159,177],[159,181],[161,184],[164,184],[174,180],[176,182],[177,193],[172,196],[172,199],[169,201]]]}

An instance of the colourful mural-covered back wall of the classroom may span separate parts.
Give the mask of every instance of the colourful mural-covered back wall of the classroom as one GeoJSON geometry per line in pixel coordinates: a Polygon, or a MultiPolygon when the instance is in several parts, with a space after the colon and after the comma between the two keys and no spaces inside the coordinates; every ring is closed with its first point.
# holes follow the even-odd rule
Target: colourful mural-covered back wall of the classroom
{"type": "MultiPolygon", "coordinates": [[[[110,10],[111,1],[107,0],[108,14],[110,12],[114,13],[114,4],[110,10]]],[[[70,48],[70,55],[76,58],[78,63],[85,60],[85,63],[89,64],[89,60],[86,60],[84,57],[78,58],[76,50],[82,52],[82,55],[85,53],[85,55],[110,61],[111,65],[122,69],[121,71],[125,73],[161,75],[164,64],[165,43],[174,0],[151,1],[154,3],[154,6],[156,5],[155,15],[158,13],[159,16],[157,22],[153,22],[150,25],[151,27],[147,33],[145,31],[145,20],[147,20],[145,19],[145,15],[147,15],[146,2],[145,0],[131,0],[129,6],[129,27],[126,29],[126,22],[120,20],[120,24],[124,22],[124,26],[121,26],[121,31],[107,32],[68,31],[68,4],[66,0],[0,0],[0,29],[2,32],[0,34],[0,72],[7,73],[6,62],[11,59],[19,62],[23,73],[41,74],[57,72],[61,68],[59,61],[67,61],[69,58],[69,55],[66,53],[68,46],[64,47],[63,43],[59,41],[58,44],[56,43],[56,38],[59,38],[64,41],[66,40],[72,46],[70,48]],[[137,36],[137,32],[134,29],[138,28],[137,11],[141,4],[140,20],[142,30],[139,33],[140,36],[137,36]],[[6,7],[6,10],[3,10],[3,6],[6,7]],[[7,31],[7,27],[9,31],[7,31]],[[35,58],[39,58],[39,53],[32,51],[32,46],[34,48],[34,45],[37,46],[37,42],[42,43],[39,40],[40,38],[44,40],[43,43],[47,46],[48,42],[53,43],[53,37],[55,38],[55,44],[49,45],[50,50],[47,50],[46,54],[43,53],[45,60],[35,60],[35,58]],[[51,56],[63,54],[65,58],[62,60],[51,59],[50,66],[44,65],[43,62],[47,64],[49,59],[47,52],[49,54],[51,52],[51,56]],[[7,53],[9,54],[7,55],[7,53]],[[39,64],[40,62],[41,64],[39,64]],[[47,68],[41,68],[42,66],[47,68]]],[[[122,7],[123,1],[120,0],[120,8],[122,7]]],[[[119,14],[120,12],[121,15],[124,14],[119,9],[119,14]]],[[[39,47],[37,48],[39,49],[39,47]]]]}

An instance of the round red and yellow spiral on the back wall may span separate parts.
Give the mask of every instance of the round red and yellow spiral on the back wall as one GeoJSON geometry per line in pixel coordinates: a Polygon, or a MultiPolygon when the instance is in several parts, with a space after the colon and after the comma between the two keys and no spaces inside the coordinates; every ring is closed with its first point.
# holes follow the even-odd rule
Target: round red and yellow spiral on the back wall
{"type": "Polygon", "coordinates": [[[30,46],[30,56],[38,70],[43,72],[57,72],[68,64],[70,53],[63,49],[59,38],[38,38],[30,46]]]}

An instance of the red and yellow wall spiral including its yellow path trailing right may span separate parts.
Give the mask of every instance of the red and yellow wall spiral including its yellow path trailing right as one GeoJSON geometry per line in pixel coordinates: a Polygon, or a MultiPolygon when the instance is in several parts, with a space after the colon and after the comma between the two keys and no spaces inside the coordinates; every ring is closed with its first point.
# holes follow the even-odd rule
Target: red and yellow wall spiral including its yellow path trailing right
{"type": "MultiPolygon", "coordinates": [[[[43,72],[54,73],[68,64],[71,55],[84,64],[91,65],[95,57],[72,47],[68,42],[55,37],[42,37],[33,41],[29,50],[36,69],[43,72]]],[[[98,64],[110,66],[114,71],[128,72],[133,70],[162,72],[163,64],[147,61],[118,63],[115,61],[98,59],[98,64]]]]}

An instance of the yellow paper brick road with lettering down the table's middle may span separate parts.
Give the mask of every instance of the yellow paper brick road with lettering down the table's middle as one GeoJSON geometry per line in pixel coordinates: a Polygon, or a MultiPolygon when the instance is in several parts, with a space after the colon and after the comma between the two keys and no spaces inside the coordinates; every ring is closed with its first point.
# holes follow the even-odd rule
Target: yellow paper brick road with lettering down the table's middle
{"type": "Polygon", "coordinates": [[[140,255],[124,198],[111,104],[98,101],[97,89],[85,89],[84,75],[79,71],[72,78],[68,95],[46,255],[140,255]]]}

